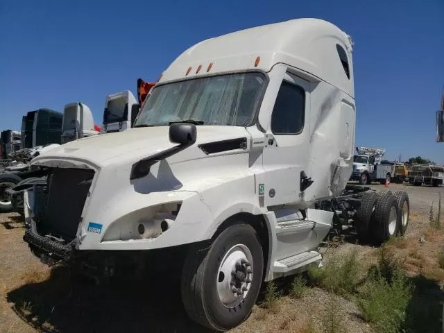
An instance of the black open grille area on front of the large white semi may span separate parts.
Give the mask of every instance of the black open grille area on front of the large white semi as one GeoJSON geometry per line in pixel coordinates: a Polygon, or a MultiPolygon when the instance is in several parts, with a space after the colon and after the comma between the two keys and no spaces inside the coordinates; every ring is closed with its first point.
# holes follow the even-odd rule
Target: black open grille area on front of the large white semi
{"type": "Polygon", "coordinates": [[[76,237],[80,216],[91,187],[94,171],[54,169],[48,178],[44,216],[37,223],[40,234],[52,234],[71,241],[76,237]]]}

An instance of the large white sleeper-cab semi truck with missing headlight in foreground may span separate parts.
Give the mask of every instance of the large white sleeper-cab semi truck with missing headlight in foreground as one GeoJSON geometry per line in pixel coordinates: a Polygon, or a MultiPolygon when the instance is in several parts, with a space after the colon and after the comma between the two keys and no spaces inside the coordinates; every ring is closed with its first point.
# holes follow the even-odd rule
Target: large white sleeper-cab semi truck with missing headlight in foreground
{"type": "Polygon", "coordinates": [[[49,181],[25,192],[24,240],[103,280],[180,262],[187,314],[228,330],[263,281],[320,264],[332,227],[375,242],[407,228],[407,194],[346,185],[354,143],[343,31],[294,19],[215,37],[164,71],[134,128],[33,160],[49,181]]]}

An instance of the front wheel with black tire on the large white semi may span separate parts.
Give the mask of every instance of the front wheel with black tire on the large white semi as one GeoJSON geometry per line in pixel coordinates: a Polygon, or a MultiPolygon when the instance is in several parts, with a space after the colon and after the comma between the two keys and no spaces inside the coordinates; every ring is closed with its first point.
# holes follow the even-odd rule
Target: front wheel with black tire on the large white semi
{"type": "Polygon", "coordinates": [[[212,330],[236,327],[255,305],[263,268],[262,245],[250,225],[231,225],[210,246],[196,244],[182,271],[185,311],[212,330]]]}

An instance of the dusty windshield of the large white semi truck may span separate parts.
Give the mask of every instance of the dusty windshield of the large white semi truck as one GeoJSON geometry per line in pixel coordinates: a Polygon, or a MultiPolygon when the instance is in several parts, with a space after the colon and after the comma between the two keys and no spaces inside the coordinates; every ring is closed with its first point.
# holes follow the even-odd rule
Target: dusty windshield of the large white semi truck
{"type": "Polygon", "coordinates": [[[265,87],[260,73],[196,78],[153,89],[135,126],[194,120],[205,125],[249,126],[265,87]]]}

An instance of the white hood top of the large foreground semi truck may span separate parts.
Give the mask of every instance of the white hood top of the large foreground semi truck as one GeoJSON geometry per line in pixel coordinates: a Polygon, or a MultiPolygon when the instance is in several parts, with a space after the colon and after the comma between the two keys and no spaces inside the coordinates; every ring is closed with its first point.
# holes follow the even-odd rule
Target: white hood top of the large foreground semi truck
{"type": "MultiPolygon", "coordinates": [[[[194,146],[241,137],[250,137],[246,128],[197,126],[197,140],[194,146]]],[[[35,157],[31,164],[49,165],[49,160],[71,160],[76,161],[76,165],[86,162],[100,168],[115,162],[116,159],[123,161],[149,157],[176,145],[169,141],[169,126],[132,128],[62,144],[35,157]]],[[[205,155],[203,151],[201,153],[205,155]]]]}

